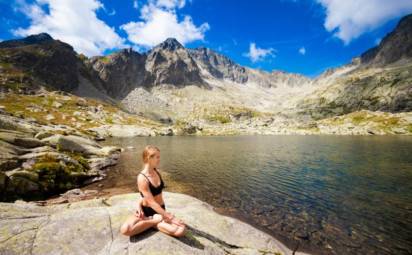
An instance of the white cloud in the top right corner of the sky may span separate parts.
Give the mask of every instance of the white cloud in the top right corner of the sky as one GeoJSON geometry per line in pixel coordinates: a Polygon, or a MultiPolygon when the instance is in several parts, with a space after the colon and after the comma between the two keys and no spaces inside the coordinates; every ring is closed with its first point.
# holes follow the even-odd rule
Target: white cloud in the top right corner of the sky
{"type": "Polygon", "coordinates": [[[324,26],[345,44],[390,19],[412,12],[411,0],[317,0],[326,9],[324,26]]]}

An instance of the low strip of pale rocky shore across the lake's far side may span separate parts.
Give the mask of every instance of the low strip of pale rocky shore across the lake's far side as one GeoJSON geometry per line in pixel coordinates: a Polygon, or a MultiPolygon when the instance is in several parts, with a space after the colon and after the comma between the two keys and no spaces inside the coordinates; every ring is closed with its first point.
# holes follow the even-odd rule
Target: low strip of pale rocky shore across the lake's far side
{"type": "Polygon", "coordinates": [[[412,135],[412,112],[387,113],[362,110],[316,121],[300,122],[284,117],[241,119],[230,123],[187,121],[157,132],[135,125],[92,128],[101,137],[156,135],[412,135]]]}

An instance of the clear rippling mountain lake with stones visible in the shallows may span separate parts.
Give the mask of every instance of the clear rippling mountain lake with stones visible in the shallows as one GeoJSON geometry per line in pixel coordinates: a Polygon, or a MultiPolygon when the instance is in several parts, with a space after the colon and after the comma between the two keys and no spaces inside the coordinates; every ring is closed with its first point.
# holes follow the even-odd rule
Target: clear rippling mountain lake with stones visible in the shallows
{"type": "Polygon", "coordinates": [[[104,144],[133,146],[99,182],[107,194],[137,192],[141,152],[154,144],[166,191],[206,201],[291,249],[412,253],[412,137],[161,136],[104,144]]]}

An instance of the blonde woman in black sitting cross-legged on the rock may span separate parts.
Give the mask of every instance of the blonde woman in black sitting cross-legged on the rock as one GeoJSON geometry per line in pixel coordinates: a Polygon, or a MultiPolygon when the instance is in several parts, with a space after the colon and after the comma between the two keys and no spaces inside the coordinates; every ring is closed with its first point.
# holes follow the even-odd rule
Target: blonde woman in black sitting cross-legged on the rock
{"type": "Polygon", "coordinates": [[[160,163],[159,148],[147,145],[142,157],[144,168],[137,175],[137,189],[142,199],[135,214],[121,226],[120,232],[132,236],[154,227],[171,236],[183,236],[186,232],[185,223],[167,212],[163,201],[164,182],[157,170],[160,163]]]}

